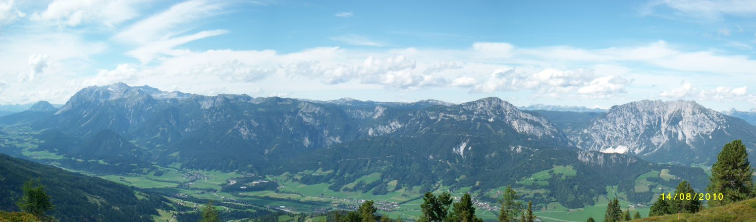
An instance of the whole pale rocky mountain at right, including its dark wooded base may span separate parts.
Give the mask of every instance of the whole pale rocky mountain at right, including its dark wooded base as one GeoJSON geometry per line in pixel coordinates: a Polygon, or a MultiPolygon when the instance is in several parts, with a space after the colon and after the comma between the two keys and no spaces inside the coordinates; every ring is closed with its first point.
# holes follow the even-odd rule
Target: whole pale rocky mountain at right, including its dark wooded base
{"type": "Polygon", "coordinates": [[[756,127],[693,101],[616,105],[569,138],[583,150],[629,153],[655,162],[711,163],[724,144],[754,146],[756,127]]]}

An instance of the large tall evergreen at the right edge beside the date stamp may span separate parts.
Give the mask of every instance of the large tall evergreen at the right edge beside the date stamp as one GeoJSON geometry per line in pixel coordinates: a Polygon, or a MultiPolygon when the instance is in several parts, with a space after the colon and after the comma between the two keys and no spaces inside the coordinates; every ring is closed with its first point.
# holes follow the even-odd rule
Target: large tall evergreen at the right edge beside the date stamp
{"type": "Polygon", "coordinates": [[[708,193],[723,194],[723,199],[711,199],[711,206],[739,202],[753,196],[754,184],[751,179],[754,169],[748,162],[748,153],[740,140],[725,144],[717,155],[717,163],[711,166],[711,183],[708,193]]]}

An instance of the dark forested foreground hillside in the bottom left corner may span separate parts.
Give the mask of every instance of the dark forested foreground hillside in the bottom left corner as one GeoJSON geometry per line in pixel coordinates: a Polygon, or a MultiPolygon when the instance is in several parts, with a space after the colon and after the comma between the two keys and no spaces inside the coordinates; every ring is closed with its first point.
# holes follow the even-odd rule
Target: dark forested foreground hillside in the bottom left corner
{"type": "Polygon", "coordinates": [[[152,221],[162,203],[122,184],[0,154],[0,211],[19,211],[21,187],[33,178],[41,179],[60,221],[152,221]]]}

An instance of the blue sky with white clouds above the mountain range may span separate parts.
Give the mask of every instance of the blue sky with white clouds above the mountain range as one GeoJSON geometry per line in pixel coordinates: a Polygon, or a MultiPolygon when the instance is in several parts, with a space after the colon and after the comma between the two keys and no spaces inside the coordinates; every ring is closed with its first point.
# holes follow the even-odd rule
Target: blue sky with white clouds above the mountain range
{"type": "Polygon", "coordinates": [[[756,108],[753,1],[0,0],[0,104],[89,86],[756,108]]]}

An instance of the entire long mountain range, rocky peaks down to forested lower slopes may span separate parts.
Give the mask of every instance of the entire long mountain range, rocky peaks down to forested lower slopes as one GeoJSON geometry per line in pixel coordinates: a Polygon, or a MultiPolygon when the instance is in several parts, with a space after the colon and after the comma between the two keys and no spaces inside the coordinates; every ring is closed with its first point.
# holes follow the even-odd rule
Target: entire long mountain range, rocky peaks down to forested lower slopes
{"type": "Polygon", "coordinates": [[[60,108],[40,102],[0,117],[0,125],[39,131],[36,151],[69,158],[54,162],[70,169],[143,173],[156,164],[260,175],[318,170],[331,173],[297,180],[326,183],[335,191],[381,193],[386,187],[380,184],[389,181],[427,190],[441,184],[490,190],[569,166],[579,173],[527,185],[550,190],[551,196],[533,197],[535,202],[569,208],[592,205],[612,186],[628,199],[649,202],[652,196],[636,193],[636,178],[665,169],[675,175],[665,183],[684,179],[702,190],[708,182],[702,169],[660,163],[711,164],[723,144],[735,139],[756,157],[756,126],[692,101],[526,111],[495,97],[461,104],[314,101],[202,96],[119,83],[87,87],[60,108]],[[374,183],[347,186],[375,173],[380,178],[374,183]]]}

